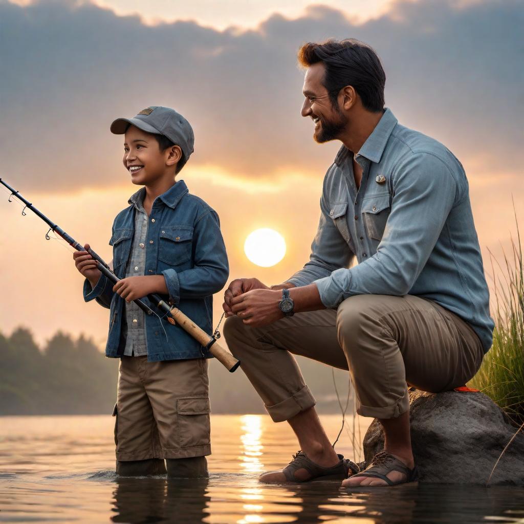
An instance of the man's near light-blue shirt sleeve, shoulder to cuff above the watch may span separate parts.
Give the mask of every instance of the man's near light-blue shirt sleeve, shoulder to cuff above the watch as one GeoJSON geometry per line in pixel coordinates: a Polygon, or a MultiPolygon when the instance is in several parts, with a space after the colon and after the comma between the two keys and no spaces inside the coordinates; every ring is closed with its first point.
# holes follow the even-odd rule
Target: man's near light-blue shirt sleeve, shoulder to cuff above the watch
{"type": "Polygon", "coordinates": [[[411,153],[394,172],[391,213],[377,252],[315,280],[326,308],[357,294],[405,295],[427,262],[455,202],[453,172],[431,152],[411,153]]]}

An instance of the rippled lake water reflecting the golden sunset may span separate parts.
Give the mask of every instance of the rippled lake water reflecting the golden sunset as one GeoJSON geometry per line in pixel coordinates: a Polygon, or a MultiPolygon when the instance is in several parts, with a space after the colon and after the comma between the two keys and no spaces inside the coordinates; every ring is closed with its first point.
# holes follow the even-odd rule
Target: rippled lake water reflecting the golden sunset
{"type": "MultiPolygon", "coordinates": [[[[341,418],[322,422],[336,436],[341,418]]],[[[297,451],[287,424],[259,415],[212,417],[209,481],[119,479],[113,423],[109,416],[0,417],[0,522],[524,523],[522,488],[259,484],[260,472],[286,465],[297,451]]],[[[359,423],[362,436],[369,419],[359,423]]],[[[337,451],[358,459],[350,431],[337,451]]]]}

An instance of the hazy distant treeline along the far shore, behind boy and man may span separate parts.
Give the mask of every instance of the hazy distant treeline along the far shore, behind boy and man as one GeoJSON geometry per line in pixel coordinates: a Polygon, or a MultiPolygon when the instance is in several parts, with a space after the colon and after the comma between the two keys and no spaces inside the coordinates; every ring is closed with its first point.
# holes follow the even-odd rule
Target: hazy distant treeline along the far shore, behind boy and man
{"type": "MultiPolygon", "coordinates": [[[[319,411],[340,412],[331,368],[305,358],[298,361],[319,411]]],[[[8,337],[0,333],[0,416],[111,413],[118,362],[106,358],[84,335],[75,340],[59,331],[40,348],[26,328],[8,337]]],[[[335,374],[345,405],[348,373],[335,374]]],[[[214,359],[210,396],[214,413],[265,413],[244,373],[228,373],[214,359]]]]}

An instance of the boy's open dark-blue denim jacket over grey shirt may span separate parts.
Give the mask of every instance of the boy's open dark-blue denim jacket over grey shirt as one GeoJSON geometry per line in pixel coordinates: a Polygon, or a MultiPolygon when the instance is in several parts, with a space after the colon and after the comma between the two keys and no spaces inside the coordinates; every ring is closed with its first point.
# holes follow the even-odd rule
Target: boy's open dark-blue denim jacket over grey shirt
{"type": "MultiPolygon", "coordinates": [[[[110,241],[113,271],[118,278],[125,276],[134,230],[135,208],[130,205],[116,216],[110,241]]],[[[203,200],[189,194],[183,180],[152,205],[145,275],[163,275],[169,291],[169,297],[163,298],[211,335],[212,295],[224,287],[229,276],[227,254],[218,215],[203,200]]],[[[122,356],[124,347],[119,347],[119,341],[124,299],[113,291],[113,283],[104,275],[93,289],[86,280],[83,292],[86,302],[95,299],[104,308],[110,308],[106,356],[122,356]]],[[[144,302],[158,312],[147,298],[144,302]]],[[[155,314],[146,314],[145,324],[149,362],[202,357],[203,347],[178,325],[160,321],[155,314]]],[[[211,355],[206,352],[205,356],[211,355]]]]}

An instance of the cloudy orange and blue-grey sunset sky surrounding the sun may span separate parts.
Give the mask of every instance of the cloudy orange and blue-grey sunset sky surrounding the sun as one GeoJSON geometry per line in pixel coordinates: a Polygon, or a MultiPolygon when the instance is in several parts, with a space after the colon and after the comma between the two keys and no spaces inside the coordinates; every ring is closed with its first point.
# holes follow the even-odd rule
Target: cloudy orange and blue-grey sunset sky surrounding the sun
{"type": "MultiPolygon", "coordinates": [[[[104,0],[110,4],[117,7],[116,0],[104,0]]],[[[406,2],[391,4],[388,15],[383,9],[389,4],[376,2],[379,18],[361,25],[348,21],[358,9],[346,10],[346,19],[326,10],[340,3],[324,2],[323,10],[304,12],[305,4],[289,4],[287,14],[300,17],[296,20],[273,19],[237,35],[204,30],[198,23],[150,27],[84,3],[88,7],[61,8],[71,31],[62,40],[54,18],[46,22],[42,16],[58,3],[0,5],[7,13],[0,11],[0,45],[10,60],[0,99],[0,176],[109,260],[113,218],[136,187],[121,164],[122,137],[108,133],[108,125],[148,105],[178,101],[196,136],[194,158],[179,178],[219,213],[231,278],[282,281],[309,257],[322,179],[338,148],[314,144],[311,122],[300,117],[303,73],[294,53],[308,38],[357,36],[375,45],[384,61],[386,102],[400,123],[443,141],[464,164],[488,269],[487,248],[499,254],[500,244],[507,248],[510,231],[515,233],[512,196],[524,220],[519,88],[510,67],[518,59],[496,59],[501,49],[515,48],[509,45],[515,33],[507,22],[514,2],[462,2],[473,6],[461,9],[444,1],[406,2]],[[93,41],[90,17],[99,17],[93,41]],[[483,39],[488,29],[491,43],[483,39]],[[133,38],[112,42],[118,31],[124,36],[134,31],[133,38]],[[186,63],[182,52],[172,54],[179,62],[171,67],[171,55],[162,52],[184,31],[195,35],[183,40],[191,60],[186,63]],[[146,47],[144,55],[130,50],[134,40],[146,47]],[[100,41],[104,47],[96,49],[100,41]],[[286,257],[273,268],[257,267],[243,253],[245,237],[259,227],[274,228],[286,239],[286,257]]],[[[143,15],[155,16],[151,10],[143,15]]],[[[253,27],[264,16],[246,12],[243,23],[253,27]]],[[[194,9],[180,18],[196,18],[194,9]]],[[[223,25],[216,23],[219,29],[223,25]]],[[[21,208],[7,198],[0,191],[0,331],[10,333],[23,324],[39,342],[59,329],[83,332],[103,346],[107,311],[83,302],[72,254],[46,241],[46,225],[32,214],[22,217],[21,208]]],[[[215,322],[221,302],[216,295],[215,322]]]]}

